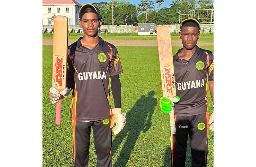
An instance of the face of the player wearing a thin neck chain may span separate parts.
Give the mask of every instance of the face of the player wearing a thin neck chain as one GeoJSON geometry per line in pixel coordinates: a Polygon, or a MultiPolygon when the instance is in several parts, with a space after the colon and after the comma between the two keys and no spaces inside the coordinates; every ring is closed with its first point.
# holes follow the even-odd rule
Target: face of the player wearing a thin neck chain
{"type": "Polygon", "coordinates": [[[196,46],[200,32],[198,27],[182,27],[180,34],[183,46],[190,50],[196,46]]]}

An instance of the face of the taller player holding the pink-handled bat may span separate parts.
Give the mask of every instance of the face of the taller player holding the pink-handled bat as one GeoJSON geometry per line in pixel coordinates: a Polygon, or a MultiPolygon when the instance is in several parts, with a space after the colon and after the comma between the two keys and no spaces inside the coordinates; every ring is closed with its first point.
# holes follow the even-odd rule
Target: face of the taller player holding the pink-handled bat
{"type": "Polygon", "coordinates": [[[79,20],[79,26],[83,28],[84,34],[88,36],[96,36],[98,34],[98,28],[102,22],[98,20],[98,16],[95,13],[85,13],[81,20],[79,20]]]}

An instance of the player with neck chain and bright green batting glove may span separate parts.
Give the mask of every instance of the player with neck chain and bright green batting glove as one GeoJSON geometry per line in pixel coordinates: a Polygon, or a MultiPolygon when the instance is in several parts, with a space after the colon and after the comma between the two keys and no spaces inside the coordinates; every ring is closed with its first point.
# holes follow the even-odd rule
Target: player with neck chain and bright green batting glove
{"type": "Polygon", "coordinates": [[[183,19],[179,34],[183,48],[178,50],[173,61],[176,93],[180,101],[173,106],[169,99],[160,99],[163,112],[169,113],[174,107],[176,134],[171,134],[171,165],[185,166],[189,135],[192,167],[206,167],[208,133],[209,129],[213,130],[213,113],[209,117],[206,97],[209,81],[213,102],[213,54],[196,45],[200,36],[197,18],[191,16],[183,19]]]}

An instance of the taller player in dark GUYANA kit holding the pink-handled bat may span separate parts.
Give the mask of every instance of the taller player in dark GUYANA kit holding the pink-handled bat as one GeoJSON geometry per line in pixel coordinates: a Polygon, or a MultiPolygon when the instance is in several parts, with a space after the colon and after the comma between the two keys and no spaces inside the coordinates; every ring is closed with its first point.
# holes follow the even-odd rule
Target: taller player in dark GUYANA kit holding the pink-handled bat
{"type": "Polygon", "coordinates": [[[98,36],[101,15],[97,7],[84,4],[79,13],[84,36],[68,47],[66,88],[50,88],[51,103],[65,98],[73,89],[71,117],[73,125],[74,167],[88,166],[90,133],[93,129],[98,167],[112,167],[112,133],[119,133],[126,114],[121,114],[123,72],[117,49],[98,36]],[[111,79],[111,81],[110,81],[111,79]],[[115,108],[110,108],[110,85],[115,108]],[[112,114],[114,114],[112,116],[112,114]]]}

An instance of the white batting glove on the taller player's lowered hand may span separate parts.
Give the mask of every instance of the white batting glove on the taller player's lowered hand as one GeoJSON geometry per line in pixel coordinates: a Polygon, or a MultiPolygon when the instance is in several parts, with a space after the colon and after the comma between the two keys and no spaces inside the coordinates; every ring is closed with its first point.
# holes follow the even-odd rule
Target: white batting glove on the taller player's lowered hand
{"type": "Polygon", "coordinates": [[[121,108],[112,109],[112,113],[114,115],[111,118],[110,128],[112,128],[115,124],[115,127],[113,127],[112,131],[116,135],[123,130],[126,124],[126,113],[124,112],[121,114],[121,108]]]}

